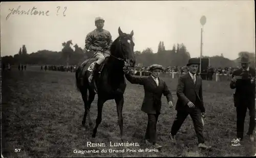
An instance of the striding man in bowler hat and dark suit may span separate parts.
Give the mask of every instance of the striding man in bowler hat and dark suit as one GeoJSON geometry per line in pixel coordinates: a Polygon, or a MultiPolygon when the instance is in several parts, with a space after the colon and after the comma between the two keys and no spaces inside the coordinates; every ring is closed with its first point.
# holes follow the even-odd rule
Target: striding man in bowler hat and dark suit
{"type": "Polygon", "coordinates": [[[202,117],[205,117],[205,109],[202,95],[202,78],[196,76],[199,65],[200,63],[198,63],[197,59],[189,59],[187,64],[189,72],[179,77],[176,104],[177,117],[174,120],[169,136],[172,141],[176,142],[175,136],[189,114],[196,130],[199,142],[198,147],[209,149],[210,146],[204,144],[203,137],[202,117]]]}

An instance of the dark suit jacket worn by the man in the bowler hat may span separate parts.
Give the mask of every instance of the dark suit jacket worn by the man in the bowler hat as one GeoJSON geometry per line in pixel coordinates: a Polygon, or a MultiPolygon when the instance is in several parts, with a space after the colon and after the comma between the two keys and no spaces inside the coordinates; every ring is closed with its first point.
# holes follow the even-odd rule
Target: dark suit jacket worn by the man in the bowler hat
{"type": "Polygon", "coordinates": [[[176,110],[187,110],[189,108],[187,103],[191,101],[202,113],[205,112],[201,77],[196,76],[196,84],[194,84],[189,73],[180,76],[177,86],[177,97],[176,110]]]}

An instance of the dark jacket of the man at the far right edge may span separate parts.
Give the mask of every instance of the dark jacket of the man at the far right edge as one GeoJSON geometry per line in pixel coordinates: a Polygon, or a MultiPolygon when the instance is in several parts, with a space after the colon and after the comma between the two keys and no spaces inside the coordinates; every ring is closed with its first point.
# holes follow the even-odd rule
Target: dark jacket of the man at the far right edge
{"type": "MultiPolygon", "coordinates": [[[[234,76],[240,76],[240,74],[243,72],[243,69],[240,68],[232,73],[232,77],[234,76]]],[[[255,77],[255,70],[253,68],[249,68],[249,73],[252,77],[255,77]]],[[[237,83],[230,82],[230,88],[236,89],[236,92],[233,95],[234,99],[234,106],[238,107],[243,100],[252,99],[254,100],[255,97],[255,80],[253,83],[250,82],[250,80],[241,80],[238,79],[237,83]]],[[[252,101],[252,103],[254,103],[252,101]]]]}

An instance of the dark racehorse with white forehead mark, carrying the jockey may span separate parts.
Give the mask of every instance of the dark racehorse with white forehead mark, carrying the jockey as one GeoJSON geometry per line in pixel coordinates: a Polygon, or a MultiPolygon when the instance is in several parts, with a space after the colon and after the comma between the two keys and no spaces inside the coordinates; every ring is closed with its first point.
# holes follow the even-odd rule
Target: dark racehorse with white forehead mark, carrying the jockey
{"type": "MultiPolygon", "coordinates": [[[[120,127],[121,140],[123,140],[123,93],[126,88],[126,83],[124,79],[123,66],[124,64],[129,67],[135,66],[135,55],[134,55],[134,42],[133,42],[133,31],[130,34],[125,34],[118,28],[119,37],[113,42],[110,48],[110,56],[105,59],[104,66],[100,72],[94,77],[95,85],[97,86],[98,94],[98,116],[96,119],[96,125],[93,130],[92,137],[96,137],[97,128],[101,122],[102,117],[102,107],[106,100],[115,99],[118,124],[120,127]]],[[[94,60],[95,61],[95,60],[94,60]]],[[[92,61],[89,63],[88,60],[83,62],[86,64],[81,64],[76,70],[76,87],[81,92],[82,99],[84,102],[84,115],[82,120],[82,125],[86,123],[86,117],[88,114],[89,125],[92,126],[92,121],[90,118],[90,108],[91,103],[95,97],[95,91],[93,86],[89,85],[88,77],[90,71],[88,67],[91,65],[92,61]],[[86,72],[83,75],[83,71],[86,72]],[[82,78],[82,79],[81,79],[82,78]],[[81,82],[82,80],[82,82],[81,82]],[[89,91],[89,97],[87,97],[87,91],[89,91]]]]}

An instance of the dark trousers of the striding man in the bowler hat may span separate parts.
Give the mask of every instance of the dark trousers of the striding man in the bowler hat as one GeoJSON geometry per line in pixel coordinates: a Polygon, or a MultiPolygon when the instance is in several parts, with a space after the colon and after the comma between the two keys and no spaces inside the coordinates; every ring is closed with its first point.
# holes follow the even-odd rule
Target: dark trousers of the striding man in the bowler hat
{"type": "Polygon", "coordinates": [[[173,136],[175,136],[178,133],[182,123],[185,121],[188,114],[190,115],[191,119],[193,120],[194,128],[195,128],[197,138],[198,138],[198,143],[204,143],[201,111],[197,107],[194,109],[190,109],[189,111],[188,110],[177,111],[177,117],[174,120],[172,130],[170,131],[170,133],[173,136]]]}

